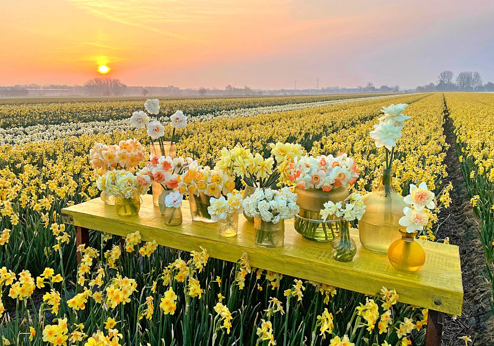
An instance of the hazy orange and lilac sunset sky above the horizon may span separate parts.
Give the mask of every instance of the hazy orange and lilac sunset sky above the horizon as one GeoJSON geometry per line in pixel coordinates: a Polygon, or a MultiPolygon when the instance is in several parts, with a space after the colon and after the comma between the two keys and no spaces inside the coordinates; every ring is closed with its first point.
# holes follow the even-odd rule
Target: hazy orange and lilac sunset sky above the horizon
{"type": "Polygon", "coordinates": [[[0,86],[494,82],[492,0],[0,0],[0,86]]]}

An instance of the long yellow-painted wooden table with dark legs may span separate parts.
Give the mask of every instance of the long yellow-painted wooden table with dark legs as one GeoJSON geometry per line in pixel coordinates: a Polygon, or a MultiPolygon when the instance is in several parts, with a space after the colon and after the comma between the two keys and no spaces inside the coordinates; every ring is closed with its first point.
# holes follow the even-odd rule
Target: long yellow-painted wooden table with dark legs
{"type": "Polygon", "coordinates": [[[202,246],[211,257],[231,262],[245,251],[254,267],[346,290],[376,295],[382,286],[395,289],[400,302],[430,309],[426,345],[440,345],[443,313],[461,314],[463,287],[457,246],[417,240],[425,250],[425,265],[416,273],[405,273],[394,269],[387,256],[365,250],[355,229],[351,236],[357,243],[357,255],[344,263],[332,258],[329,243],[299,235],[292,220],[285,221],[283,247],[262,248],[254,244],[253,223],[242,215],[238,236],[225,238],[218,234],[215,223],[192,221],[188,201],[182,205],[182,214],[181,225],[166,226],[151,195],[143,196],[137,216],[118,216],[115,207],[100,198],[62,210],[64,222],[77,227],[77,245],[88,244],[89,229],[123,237],[139,230],[143,241],[156,240],[159,245],[189,252],[202,246]]]}

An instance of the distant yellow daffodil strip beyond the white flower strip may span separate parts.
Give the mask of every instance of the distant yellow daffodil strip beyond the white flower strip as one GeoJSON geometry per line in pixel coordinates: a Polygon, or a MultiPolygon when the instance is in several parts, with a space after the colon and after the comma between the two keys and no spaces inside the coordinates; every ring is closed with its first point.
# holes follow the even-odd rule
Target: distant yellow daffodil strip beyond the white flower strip
{"type": "MultiPolygon", "coordinates": [[[[196,117],[232,109],[322,102],[368,96],[368,94],[354,94],[203,99],[182,98],[165,99],[162,101],[162,107],[165,114],[172,114],[177,109],[181,109],[191,117],[196,117]]],[[[373,94],[373,96],[377,95],[373,94]]],[[[141,108],[142,101],[140,100],[3,104],[0,105],[0,128],[119,120],[127,118],[128,114],[132,114],[132,112],[141,108]]]]}

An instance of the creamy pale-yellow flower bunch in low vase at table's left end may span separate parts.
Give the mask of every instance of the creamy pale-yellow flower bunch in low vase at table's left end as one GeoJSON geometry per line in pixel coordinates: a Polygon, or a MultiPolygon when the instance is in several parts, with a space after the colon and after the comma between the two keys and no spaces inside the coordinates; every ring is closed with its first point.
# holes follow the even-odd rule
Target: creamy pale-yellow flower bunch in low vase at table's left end
{"type": "Polygon", "coordinates": [[[147,193],[151,179],[148,175],[134,175],[125,170],[108,171],[98,178],[97,186],[110,196],[133,199],[147,193]]]}

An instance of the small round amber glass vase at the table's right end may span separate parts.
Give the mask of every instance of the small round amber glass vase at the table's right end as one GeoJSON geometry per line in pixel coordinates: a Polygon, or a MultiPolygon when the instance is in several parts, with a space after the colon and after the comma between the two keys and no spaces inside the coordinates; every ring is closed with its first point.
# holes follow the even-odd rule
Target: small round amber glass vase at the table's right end
{"type": "Polygon", "coordinates": [[[407,233],[400,229],[401,238],[389,246],[388,259],[396,269],[407,272],[419,270],[425,263],[425,251],[415,241],[417,231],[407,233]]]}

